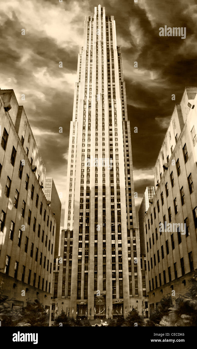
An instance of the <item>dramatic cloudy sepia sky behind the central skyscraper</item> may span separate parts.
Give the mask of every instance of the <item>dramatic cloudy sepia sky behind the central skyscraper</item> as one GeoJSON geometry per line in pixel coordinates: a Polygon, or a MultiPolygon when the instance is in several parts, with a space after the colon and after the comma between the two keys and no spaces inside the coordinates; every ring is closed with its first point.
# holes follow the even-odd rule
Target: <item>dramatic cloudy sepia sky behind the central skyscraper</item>
{"type": "MultiPolygon", "coordinates": [[[[77,58],[85,16],[94,15],[98,4],[94,0],[1,1],[0,88],[14,89],[18,103],[24,105],[47,176],[63,192],[63,208],[77,58]]],[[[153,185],[153,166],[174,105],[180,103],[185,86],[197,85],[197,3],[103,0],[101,5],[106,15],[115,16],[128,117],[131,129],[138,127],[138,133],[132,133],[137,211],[146,186],[153,185]],[[186,39],[160,37],[159,28],[165,25],[186,27],[186,39]]]]}

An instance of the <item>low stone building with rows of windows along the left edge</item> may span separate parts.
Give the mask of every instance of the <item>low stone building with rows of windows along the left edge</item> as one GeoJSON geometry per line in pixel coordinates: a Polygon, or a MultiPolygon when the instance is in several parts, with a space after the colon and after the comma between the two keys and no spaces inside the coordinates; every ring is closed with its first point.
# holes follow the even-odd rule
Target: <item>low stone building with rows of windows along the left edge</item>
{"type": "Polygon", "coordinates": [[[43,192],[45,166],[13,90],[0,90],[0,126],[1,292],[11,306],[37,298],[49,309],[56,221],[43,192]]]}

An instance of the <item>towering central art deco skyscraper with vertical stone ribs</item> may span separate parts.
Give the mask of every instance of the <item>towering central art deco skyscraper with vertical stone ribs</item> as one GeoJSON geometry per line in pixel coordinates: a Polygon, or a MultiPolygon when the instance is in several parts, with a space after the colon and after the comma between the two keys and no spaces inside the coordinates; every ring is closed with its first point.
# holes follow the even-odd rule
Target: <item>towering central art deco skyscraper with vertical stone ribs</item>
{"type": "Polygon", "coordinates": [[[57,298],[74,316],[125,316],[142,304],[139,232],[122,58],[101,5],[85,20],[77,80],[57,298]]]}

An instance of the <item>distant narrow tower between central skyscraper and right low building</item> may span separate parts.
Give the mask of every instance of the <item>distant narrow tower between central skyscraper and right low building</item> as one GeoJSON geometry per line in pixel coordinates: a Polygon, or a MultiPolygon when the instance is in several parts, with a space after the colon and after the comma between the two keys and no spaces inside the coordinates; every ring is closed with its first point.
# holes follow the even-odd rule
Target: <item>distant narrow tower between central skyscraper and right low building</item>
{"type": "MultiPolygon", "coordinates": [[[[141,273],[142,273],[142,292],[143,296],[147,295],[146,291],[146,273],[147,263],[145,254],[145,240],[144,240],[144,217],[149,208],[150,202],[155,194],[155,187],[149,186],[146,188],[141,205],[138,210],[138,222],[139,222],[139,234],[140,234],[140,262],[141,262],[141,273]]],[[[148,299],[145,298],[145,315],[148,317],[148,299]]]]}

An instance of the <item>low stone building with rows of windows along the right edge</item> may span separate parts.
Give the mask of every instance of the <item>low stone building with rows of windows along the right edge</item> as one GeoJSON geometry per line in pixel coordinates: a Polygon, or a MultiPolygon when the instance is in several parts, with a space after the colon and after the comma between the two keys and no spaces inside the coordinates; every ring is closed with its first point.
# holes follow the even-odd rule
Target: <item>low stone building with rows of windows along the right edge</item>
{"type": "Polygon", "coordinates": [[[190,287],[197,268],[197,88],[176,104],[154,168],[156,193],[144,218],[150,313],[162,295],[190,287]],[[184,227],[185,224],[185,227],[184,227]]]}

